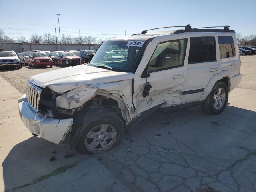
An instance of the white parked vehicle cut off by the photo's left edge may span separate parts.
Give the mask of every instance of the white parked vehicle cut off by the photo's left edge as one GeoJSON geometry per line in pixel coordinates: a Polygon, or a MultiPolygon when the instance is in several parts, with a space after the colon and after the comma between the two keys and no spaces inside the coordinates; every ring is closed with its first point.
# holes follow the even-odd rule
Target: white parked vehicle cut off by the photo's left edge
{"type": "Polygon", "coordinates": [[[0,52],[0,68],[15,67],[21,69],[20,59],[14,51],[0,52]]]}

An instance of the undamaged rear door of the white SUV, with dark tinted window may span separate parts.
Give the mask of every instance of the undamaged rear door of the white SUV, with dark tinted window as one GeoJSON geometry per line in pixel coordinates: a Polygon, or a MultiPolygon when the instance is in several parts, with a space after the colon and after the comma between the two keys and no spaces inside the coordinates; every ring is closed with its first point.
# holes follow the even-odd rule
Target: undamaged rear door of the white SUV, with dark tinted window
{"type": "MultiPolygon", "coordinates": [[[[182,103],[198,101],[210,78],[220,72],[217,61],[216,36],[196,34],[190,36],[186,82],[182,89],[182,103]]],[[[219,56],[219,54],[218,54],[219,56]]]]}

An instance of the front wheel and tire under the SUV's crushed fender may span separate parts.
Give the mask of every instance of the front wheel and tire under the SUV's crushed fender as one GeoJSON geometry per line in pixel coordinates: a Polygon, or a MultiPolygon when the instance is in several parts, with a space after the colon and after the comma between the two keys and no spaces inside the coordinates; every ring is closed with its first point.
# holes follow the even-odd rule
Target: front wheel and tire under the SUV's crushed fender
{"type": "Polygon", "coordinates": [[[80,154],[108,151],[120,142],[124,134],[122,120],[117,113],[107,108],[90,106],[78,112],[73,119],[74,129],[71,134],[74,135],[74,146],[80,154]]]}

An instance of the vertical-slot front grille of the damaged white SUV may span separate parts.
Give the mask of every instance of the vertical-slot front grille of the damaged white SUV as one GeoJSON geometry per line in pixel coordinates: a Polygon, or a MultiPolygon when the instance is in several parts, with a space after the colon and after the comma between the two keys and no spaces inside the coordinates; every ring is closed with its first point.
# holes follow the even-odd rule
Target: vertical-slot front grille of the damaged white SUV
{"type": "Polygon", "coordinates": [[[28,81],[27,84],[27,100],[34,110],[39,111],[39,100],[41,89],[28,81]]]}

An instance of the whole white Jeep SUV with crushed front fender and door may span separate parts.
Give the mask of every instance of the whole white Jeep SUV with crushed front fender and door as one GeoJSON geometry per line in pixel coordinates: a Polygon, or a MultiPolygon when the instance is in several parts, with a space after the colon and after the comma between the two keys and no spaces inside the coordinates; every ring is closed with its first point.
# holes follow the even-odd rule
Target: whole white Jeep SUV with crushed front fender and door
{"type": "Polygon", "coordinates": [[[88,65],[32,76],[18,100],[22,121],[50,142],[66,138],[80,153],[100,153],[150,109],[193,103],[220,114],[242,80],[236,34],[184,27],[109,39],[88,65]],[[127,57],[105,57],[116,51],[127,57]]]}

